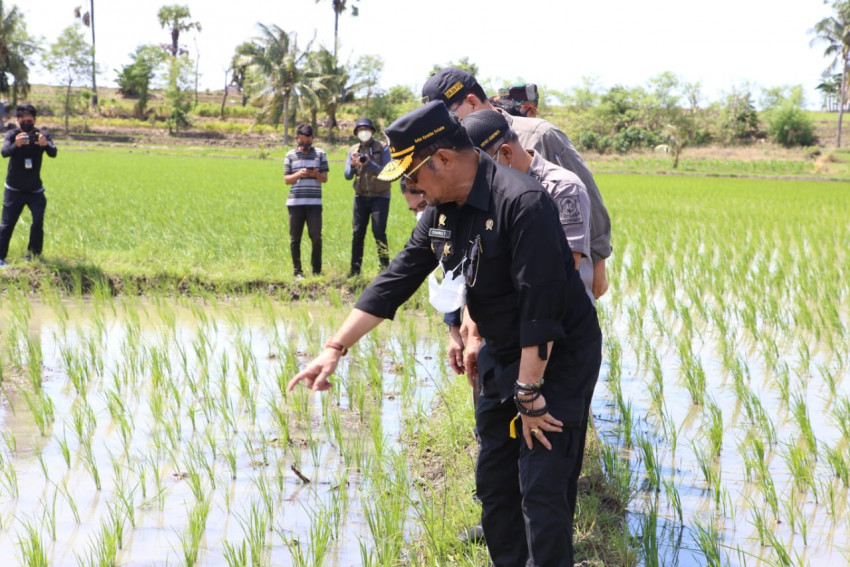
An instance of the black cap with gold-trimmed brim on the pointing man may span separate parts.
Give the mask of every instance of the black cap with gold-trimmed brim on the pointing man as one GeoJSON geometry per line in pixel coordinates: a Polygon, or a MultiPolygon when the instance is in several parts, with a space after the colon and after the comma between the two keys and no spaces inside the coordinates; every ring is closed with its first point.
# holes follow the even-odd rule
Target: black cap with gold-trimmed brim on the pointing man
{"type": "Polygon", "coordinates": [[[454,134],[460,123],[441,100],[431,101],[408,112],[384,131],[390,139],[393,161],[384,166],[378,179],[395,181],[410,168],[413,154],[437,140],[454,134]]]}

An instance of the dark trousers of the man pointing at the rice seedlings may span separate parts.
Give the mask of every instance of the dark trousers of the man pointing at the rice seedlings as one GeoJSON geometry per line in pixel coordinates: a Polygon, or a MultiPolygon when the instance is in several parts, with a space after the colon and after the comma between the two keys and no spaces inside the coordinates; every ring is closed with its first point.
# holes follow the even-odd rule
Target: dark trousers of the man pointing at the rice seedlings
{"type": "Polygon", "coordinates": [[[519,421],[519,436],[511,439],[509,428],[516,407],[512,399],[500,400],[493,381],[486,376],[478,399],[476,493],[481,500],[484,537],[496,567],[574,564],[573,517],[601,341],[593,341],[586,350],[566,360],[551,362],[553,368],[547,367],[543,395],[550,413],[564,422],[563,432],[545,433],[551,451],[537,441],[529,450],[519,421]],[[576,391],[576,384],[583,386],[576,391]],[[576,395],[583,399],[578,410],[575,400],[569,399],[576,395]]]}

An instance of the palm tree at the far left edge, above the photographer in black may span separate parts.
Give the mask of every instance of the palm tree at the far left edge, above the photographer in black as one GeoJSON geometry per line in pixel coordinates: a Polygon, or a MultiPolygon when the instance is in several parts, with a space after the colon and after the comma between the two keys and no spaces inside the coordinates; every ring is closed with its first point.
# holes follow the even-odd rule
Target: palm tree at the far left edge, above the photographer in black
{"type": "Polygon", "coordinates": [[[23,15],[17,6],[6,10],[0,0],[0,93],[12,92],[12,105],[18,94],[29,93],[29,65],[27,60],[36,52],[35,42],[27,35],[23,15]],[[12,83],[9,83],[9,76],[12,83]]]}

